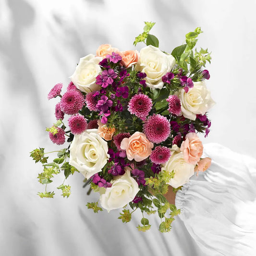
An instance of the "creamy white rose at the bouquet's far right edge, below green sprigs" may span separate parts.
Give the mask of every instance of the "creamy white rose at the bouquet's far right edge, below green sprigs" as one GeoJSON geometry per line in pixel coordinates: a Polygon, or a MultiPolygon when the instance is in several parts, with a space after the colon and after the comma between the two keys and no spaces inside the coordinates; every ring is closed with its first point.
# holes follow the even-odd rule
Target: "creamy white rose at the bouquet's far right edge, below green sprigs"
{"type": "Polygon", "coordinates": [[[181,89],[177,95],[181,100],[183,116],[190,120],[195,120],[196,114],[204,115],[215,104],[205,80],[194,82],[194,87],[190,88],[187,93],[181,89]]]}

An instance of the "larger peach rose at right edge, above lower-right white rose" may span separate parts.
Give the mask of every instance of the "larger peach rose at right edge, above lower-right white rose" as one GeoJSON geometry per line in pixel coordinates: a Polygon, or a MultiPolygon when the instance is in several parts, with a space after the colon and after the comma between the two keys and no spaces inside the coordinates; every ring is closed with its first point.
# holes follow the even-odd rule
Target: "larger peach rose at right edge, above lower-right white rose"
{"type": "Polygon", "coordinates": [[[181,145],[181,151],[184,153],[185,161],[194,165],[200,160],[203,149],[203,144],[195,133],[188,133],[186,140],[181,145]]]}

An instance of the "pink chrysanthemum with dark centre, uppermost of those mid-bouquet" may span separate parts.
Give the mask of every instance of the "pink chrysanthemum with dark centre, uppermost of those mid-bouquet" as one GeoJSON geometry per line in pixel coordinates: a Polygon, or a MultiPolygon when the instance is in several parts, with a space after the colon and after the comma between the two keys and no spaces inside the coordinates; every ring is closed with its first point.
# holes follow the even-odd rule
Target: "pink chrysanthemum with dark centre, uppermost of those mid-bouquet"
{"type": "Polygon", "coordinates": [[[152,100],[147,95],[140,93],[131,98],[128,104],[128,110],[131,114],[145,121],[149,111],[152,108],[152,100]]]}

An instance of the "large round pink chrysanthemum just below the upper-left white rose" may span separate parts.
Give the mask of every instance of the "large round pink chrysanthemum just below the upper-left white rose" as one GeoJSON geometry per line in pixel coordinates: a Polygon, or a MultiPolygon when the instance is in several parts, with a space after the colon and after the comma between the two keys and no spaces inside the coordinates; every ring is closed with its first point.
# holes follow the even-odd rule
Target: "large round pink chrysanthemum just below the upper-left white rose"
{"type": "Polygon", "coordinates": [[[61,98],[61,110],[68,115],[77,114],[84,105],[84,95],[78,90],[69,90],[61,98]]]}

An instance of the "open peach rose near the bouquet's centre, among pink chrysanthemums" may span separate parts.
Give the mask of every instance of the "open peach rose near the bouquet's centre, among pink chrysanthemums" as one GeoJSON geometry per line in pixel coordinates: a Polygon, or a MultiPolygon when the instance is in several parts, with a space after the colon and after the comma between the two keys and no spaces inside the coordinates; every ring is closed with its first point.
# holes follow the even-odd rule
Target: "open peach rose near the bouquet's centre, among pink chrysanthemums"
{"type": "Polygon", "coordinates": [[[150,156],[153,146],[144,133],[135,132],[130,138],[124,138],[120,147],[126,150],[129,160],[140,162],[150,156]]]}

